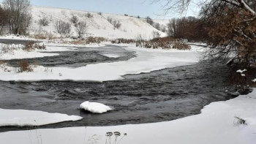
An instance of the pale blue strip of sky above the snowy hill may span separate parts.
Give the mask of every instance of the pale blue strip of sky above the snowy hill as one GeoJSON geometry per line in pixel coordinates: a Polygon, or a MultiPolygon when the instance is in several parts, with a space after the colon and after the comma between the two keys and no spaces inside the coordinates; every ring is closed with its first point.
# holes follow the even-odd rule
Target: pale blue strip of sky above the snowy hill
{"type": "Polygon", "coordinates": [[[183,15],[177,12],[170,12],[167,15],[163,15],[164,11],[161,4],[152,4],[151,0],[31,0],[31,4],[91,12],[140,15],[140,17],[150,16],[154,19],[177,18],[185,15],[196,16],[199,10],[196,4],[191,4],[190,9],[183,15]]]}

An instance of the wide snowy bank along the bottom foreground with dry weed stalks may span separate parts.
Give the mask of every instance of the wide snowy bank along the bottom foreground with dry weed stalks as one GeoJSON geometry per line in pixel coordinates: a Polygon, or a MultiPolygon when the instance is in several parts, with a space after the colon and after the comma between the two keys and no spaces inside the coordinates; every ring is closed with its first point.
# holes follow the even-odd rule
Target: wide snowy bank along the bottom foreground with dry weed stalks
{"type": "MultiPolygon", "coordinates": [[[[97,136],[98,143],[105,143],[106,132],[127,133],[122,144],[255,144],[256,91],[225,102],[213,102],[202,113],[174,121],[154,124],[130,124],[122,126],[86,126],[63,129],[39,129],[33,131],[4,132],[2,143],[27,144],[38,140],[41,132],[43,143],[85,143],[97,136]],[[235,116],[246,120],[238,124],[235,116]],[[28,133],[30,136],[28,136],[28,133]],[[13,138],[15,137],[15,138],[13,138]]],[[[112,137],[113,138],[113,137],[112,137]]],[[[113,140],[113,139],[112,139],[113,140]]]]}

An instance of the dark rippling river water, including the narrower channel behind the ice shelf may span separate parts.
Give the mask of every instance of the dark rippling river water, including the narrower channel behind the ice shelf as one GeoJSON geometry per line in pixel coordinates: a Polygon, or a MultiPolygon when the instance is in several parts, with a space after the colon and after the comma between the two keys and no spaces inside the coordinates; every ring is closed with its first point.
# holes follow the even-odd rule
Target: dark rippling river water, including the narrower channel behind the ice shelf
{"type": "MultiPolygon", "coordinates": [[[[80,67],[99,62],[126,61],[134,52],[117,46],[80,48],[59,52],[60,56],[32,58],[46,67],[80,67]],[[102,55],[114,53],[119,58],[102,55]]],[[[16,60],[9,61],[11,66],[16,60]]],[[[233,98],[230,69],[202,61],[197,64],[162,69],[140,75],[125,75],[124,80],[103,83],[72,81],[4,82],[0,81],[0,107],[4,109],[42,110],[50,113],[80,115],[82,121],[40,126],[110,126],[170,121],[200,113],[211,102],[233,98]],[[221,70],[219,70],[221,69],[221,70]],[[82,102],[101,102],[115,109],[93,114],[79,110],[82,102]]],[[[2,127],[0,132],[26,128],[2,127]]]]}

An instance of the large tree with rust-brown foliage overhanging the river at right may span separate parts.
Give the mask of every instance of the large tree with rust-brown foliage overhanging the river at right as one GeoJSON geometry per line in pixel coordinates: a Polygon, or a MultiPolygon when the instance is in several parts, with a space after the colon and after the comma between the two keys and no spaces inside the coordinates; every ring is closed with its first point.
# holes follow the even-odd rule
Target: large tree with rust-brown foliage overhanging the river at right
{"type": "MultiPolygon", "coordinates": [[[[165,2],[168,12],[173,9],[184,11],[192,0],[165,2]]],[[[201,17],[208,25],[211,38],[208,42],[211,49],[207,56],[215,59],[235,56],[232,58],[233,64],[256,67],[256,1],[203,0],[201,4],[201,17]]],[[[179,33],[179,29],[176,31],[179,33]]]]}

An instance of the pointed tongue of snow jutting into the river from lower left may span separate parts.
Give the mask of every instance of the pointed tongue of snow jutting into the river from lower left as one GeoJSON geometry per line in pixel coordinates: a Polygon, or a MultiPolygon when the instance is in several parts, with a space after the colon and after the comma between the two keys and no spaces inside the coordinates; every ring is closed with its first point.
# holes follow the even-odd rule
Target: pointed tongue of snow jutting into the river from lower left
{"type": "MultiPolygon", "coordinates": [[[[42,126],[63,121],[78,121],[80,116],[46,113],[36,110],[0,109],[0,126],[42,126]]],[[[0,140],[1,141],[1,140],[0,140]]]]}

